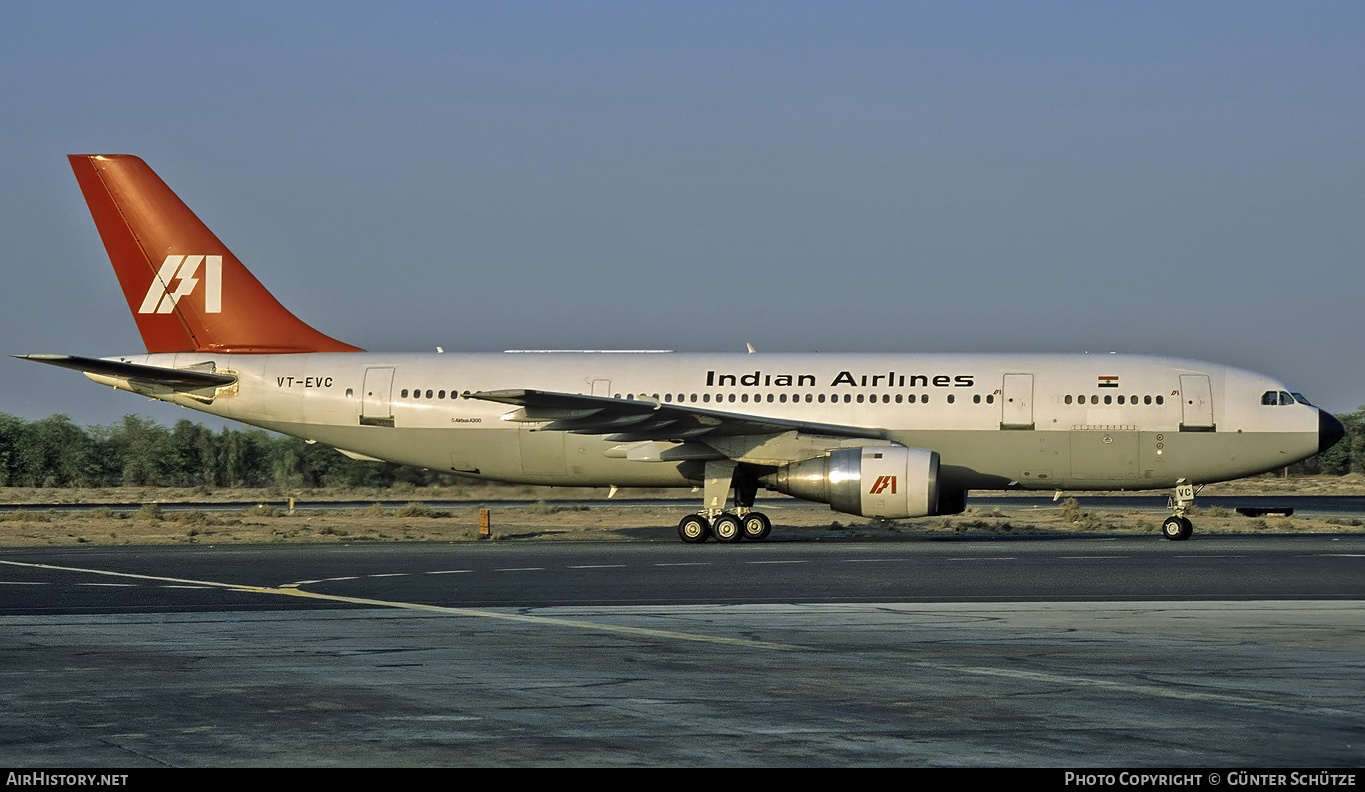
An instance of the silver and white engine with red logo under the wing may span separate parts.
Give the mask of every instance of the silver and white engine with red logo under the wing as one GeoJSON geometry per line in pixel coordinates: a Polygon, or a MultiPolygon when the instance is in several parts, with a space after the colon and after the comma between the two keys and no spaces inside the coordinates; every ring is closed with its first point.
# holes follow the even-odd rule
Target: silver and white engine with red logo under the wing
{"type": "Polygon", "coordinates": [[[864,518],[939,513],[938,452],[905,445],[839,448],[763,477],[768,489],[864,518]]]}

